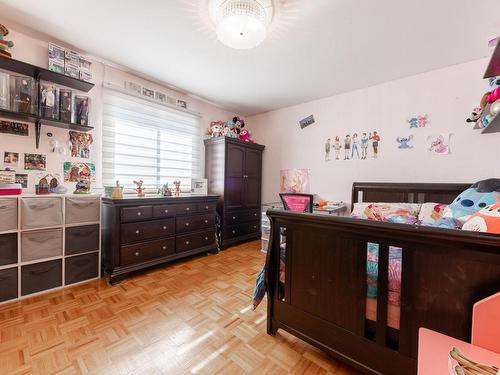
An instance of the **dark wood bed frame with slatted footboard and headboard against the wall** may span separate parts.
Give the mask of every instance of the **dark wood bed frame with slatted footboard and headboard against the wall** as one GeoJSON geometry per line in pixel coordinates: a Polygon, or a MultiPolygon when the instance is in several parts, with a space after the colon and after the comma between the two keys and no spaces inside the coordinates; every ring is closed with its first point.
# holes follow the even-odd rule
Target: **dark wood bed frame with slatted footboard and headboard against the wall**
{"type": "MultiPolygon", "coordinates": [[[[451,203],[469,186],[354,183],[353,203],[451,203]]],[[[267,215],[267,332],[288,331],[366,374],[416,374],[420,327],[470,341],[473,304],[500,291],[499,235],[282,210],[267,215]],[[376,322],[365,318],[367,242],[379,244],[376,322]],[[389,246],[403,249],[399,330],[387,326],[389,246]]]]}

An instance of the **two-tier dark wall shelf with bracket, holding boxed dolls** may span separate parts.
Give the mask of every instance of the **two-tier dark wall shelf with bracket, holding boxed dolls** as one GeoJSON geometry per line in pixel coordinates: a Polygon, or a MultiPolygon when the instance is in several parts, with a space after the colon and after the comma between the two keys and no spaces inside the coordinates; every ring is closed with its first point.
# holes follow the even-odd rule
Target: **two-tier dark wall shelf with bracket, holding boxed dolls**
{"type": "MultiPolygon", "coordinates": [[[[37,82],[39,82],[40,80],[48,81],[56,85],[69,87],[77,91],[89,92],[94,87],[94,84],[91,82],[86,82],[80,79],[66,76],[64,74],[52,72],[48,69],[28,64],[23,61],[4,57],[1,55],[0,55],[0,69],[32,77],[37,82]]],[[[38,103],[40,103],[40,100],[38,100],[38,103]]],[[[69,130],[77,130],[82,132],[88,132],[94,129],[92,126],[85,126],[60,120],[46,119],[38,115],[38,113],[40,113],[39,104],[36,108],[36,113],[20,113],[20,112],[0,109],[0,117],[17,121],[32,122],[35,124],[35,142],[37,149],[38,146],[40,145],[40,134],[41,134],[42,124],[46,126],[53,126],[69,130]]]]}

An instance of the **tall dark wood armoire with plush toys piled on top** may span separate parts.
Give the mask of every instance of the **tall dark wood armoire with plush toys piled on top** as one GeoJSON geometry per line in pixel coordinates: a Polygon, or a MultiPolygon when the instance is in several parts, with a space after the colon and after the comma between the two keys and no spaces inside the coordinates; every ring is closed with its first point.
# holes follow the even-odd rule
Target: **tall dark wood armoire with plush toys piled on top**
{"type": "Polygon", "coordinates": [[[259,238],[263,145],[217,137],[205,140],[209,194],[217,194],[220,246],[259,238]]]}

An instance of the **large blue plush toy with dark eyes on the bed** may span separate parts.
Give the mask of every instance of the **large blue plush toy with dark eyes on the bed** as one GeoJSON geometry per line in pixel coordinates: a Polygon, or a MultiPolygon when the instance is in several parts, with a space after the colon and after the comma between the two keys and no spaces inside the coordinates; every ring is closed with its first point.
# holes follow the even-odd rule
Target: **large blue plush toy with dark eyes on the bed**
{"type": "Polygon", "coordinates": [[[471,215],[495,203],[498,195],[500,195],[500,179],[490,178],[476,182],[455,198],[448,206],[444,216],[457,219],[463,223],[471,215]]]}

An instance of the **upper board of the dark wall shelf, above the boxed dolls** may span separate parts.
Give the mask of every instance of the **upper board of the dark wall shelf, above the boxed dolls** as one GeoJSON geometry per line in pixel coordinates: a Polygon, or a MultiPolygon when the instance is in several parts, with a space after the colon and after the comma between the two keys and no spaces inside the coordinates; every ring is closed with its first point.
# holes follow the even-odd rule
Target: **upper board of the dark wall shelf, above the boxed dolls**
{"type": "Polygon", "coordinates": [[[23,61],[10,59],[1,55],[0,69],[26,75],[43,81],[49,81],[55,83],[56,85],[66,86],[78,91],[89,92],[94,87],[94,84],[91,82],[82,81],[81,79],[76,79],[61,73],[52,72],[48,69],[28,64],[23,61]]]}

